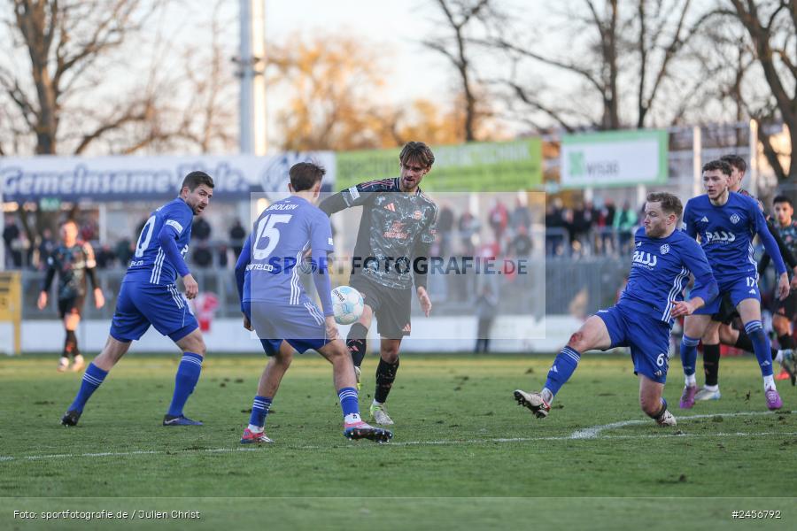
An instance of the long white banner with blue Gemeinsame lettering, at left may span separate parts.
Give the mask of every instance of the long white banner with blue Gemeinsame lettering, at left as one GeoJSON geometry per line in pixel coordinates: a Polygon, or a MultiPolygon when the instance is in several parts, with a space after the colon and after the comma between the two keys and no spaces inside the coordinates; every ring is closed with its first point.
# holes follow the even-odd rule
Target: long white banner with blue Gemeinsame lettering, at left
{"type": "Polygon", "coordinates": [[[278,198],[288,192],[288,169],[312,161],[326,168],[322,190],[332,191],[333,151],[186,157],[30,157],[0,158],[3,200],[38,201],[58,197],[76,201],[128,201],[174,197],[187,173],[201,170],[213,177],[216,199],[248,198],[265,192],[278,198]]]}

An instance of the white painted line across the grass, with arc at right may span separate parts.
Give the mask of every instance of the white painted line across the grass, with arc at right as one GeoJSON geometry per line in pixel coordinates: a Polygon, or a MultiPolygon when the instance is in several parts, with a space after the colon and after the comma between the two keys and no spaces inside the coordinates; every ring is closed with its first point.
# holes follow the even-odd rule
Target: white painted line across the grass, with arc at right
{"type": "MultiPolygon", "coordinates": [[[[744,413],[744,414],[759,414],[759,413],[744,413]]],[[[741,416],[742,414],[735,414],[741,416]]],[[[694,415],[692,417],[682,417],[682,419],[704,419],[709,417],[716,417],[718,415],[694,415]]],[[[731,414],[726,413],[724,416],[728,417],[731,414]]],[[[647,424],[650,421],[624,421],[615,422],[614,424],[607,424],[601,428],[617,427],[618,425],[630,426],[631,424],[647,424]]],[[[584,430],[582,430],[584,431],[584,430]]],[[[578,433],[578,432],[575,432],[578,433]]],[[[399,443],[387,443],[386,446],[438,446],[438,445],[456,445],[456,444],[494,444],[494,443],[530,443],[539,441],[575,441],[575,440],[595,440],[595,441],[608,441],[614,439],[661,439],[665,437],[680,439],[680,438],[693,438],[693,437],[768,437],[771,435],[780,436],[797,436],[797,432],[719,432],[714,434],[670,434],[662,432],[662,434],[649,434],[649,435],[593,435],[592,437],[573,437],[573,435],[561,435],[550,437],[513,437],[513,438],[497,438],[497,439],[467,439],[467,440],[450,440],[450,441],[404,441],[399,443]]],[[[268,446],[268,445],[267,445],[268,446]]],[[[286,450],[317,450],[321,446],[288,446],[280,447],[279,443],[275,445],[276,448],[286,450]]],[[[133,451],[117,451],[117,452],[102,452],[102,453],[82,453],[82,454],[50,454],[41,456],[0,456],[0,462],[8,461],[35,461],[42,459],[63,459],[63,458],[97,458],[97,457],[128,457],[152,454],[201,454],[201,453],[235,453],[241,451],[259,451],[259,448],[213,448],[205,450],[133,450],[133,451]]]]}

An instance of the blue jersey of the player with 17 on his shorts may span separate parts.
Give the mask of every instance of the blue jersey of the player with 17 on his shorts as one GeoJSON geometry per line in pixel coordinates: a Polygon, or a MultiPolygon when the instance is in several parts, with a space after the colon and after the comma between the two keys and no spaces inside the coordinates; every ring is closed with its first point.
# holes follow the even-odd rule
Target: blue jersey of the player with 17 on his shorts
{"type": "Polygon", "coordinates": [[[743,277],[757,279],[753,258],[756,234],[775,259],[778,273],[785,272],[778,244],[767,229],[758,203],[750,196],[730,192],[722,206],[711,204],[708,195],[693,197],[686,202],[684,222],[688,235],[700,236],[700,247],[720,284],[743,277]]]}

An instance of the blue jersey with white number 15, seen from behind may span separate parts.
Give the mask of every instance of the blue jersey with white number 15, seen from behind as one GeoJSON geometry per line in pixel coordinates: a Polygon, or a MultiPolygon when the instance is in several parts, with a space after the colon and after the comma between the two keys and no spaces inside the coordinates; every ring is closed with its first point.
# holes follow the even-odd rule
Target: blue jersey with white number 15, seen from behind
{"type": "MultiPolygon", "coordinates": [[[[269,206],[255,221],[244,244],[236,272],[241,301],[304,305],[309,297],[299,281],[298,266],[307,249],[312,249],[313,269],[327,268],[327,255],[334,250],[329,218],[313,204],[290,196],[269,206]]],[[[318,278],[318,275],[316,275],[318,278]]],[[[332,315],[329,272],[322,275],[326,286],[316,287],[325,315],[332,315]]]]}

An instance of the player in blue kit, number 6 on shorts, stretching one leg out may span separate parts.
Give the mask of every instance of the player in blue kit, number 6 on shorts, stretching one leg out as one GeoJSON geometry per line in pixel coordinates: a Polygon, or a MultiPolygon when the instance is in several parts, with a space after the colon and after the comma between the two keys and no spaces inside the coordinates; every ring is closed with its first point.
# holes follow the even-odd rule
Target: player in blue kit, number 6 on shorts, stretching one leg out
{"type": "Polygon", "coordinates": [[[615,306],[600,310],[570,337],[548,372],[538,393],[515,391],[518,404],[539,418],[548,416],[553,397],[576,370],[587,350],[631,347],[634,373],[639,377],[642,411],[660,426],[675,426],[662,397],[667,379],[667,350],[674,319],[691,315],[714,300],[717,285],[700,245],[677,230],[683,207],[668,193],[647,196],[645,219],[634,237],[628,285],[615,306]],[[689,273],[694,275],[692,298],[684,300],[689,273]]]}

